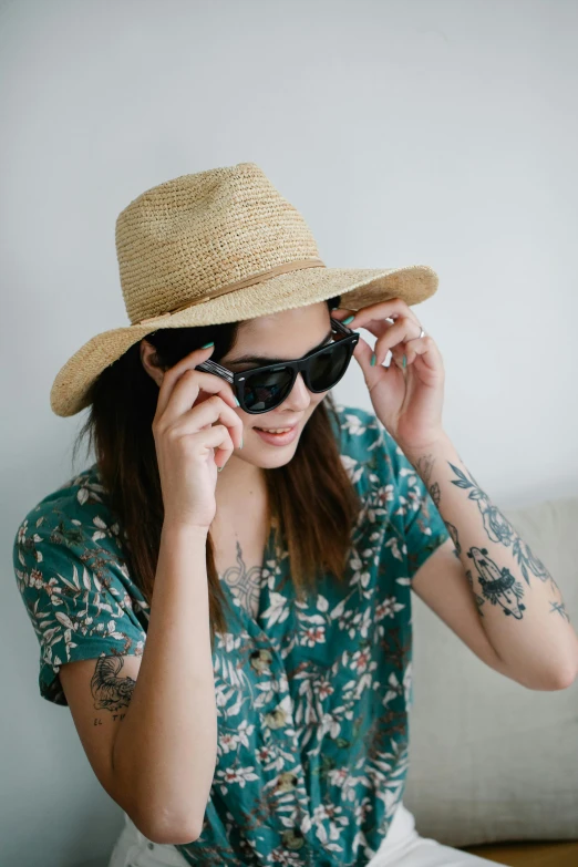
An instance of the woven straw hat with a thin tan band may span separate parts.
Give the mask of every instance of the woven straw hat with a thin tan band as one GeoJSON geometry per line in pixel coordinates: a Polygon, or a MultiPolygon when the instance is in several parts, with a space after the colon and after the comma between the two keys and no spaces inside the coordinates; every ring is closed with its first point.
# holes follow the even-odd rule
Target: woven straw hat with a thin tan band
{"type": "Polygon", "coordinates": [[[130,326],[91,338],[50,393],[56,415],[89,405],[89,389],[158,328],[235,322],[341,296],[359,310],[389,298],[416,305],[437,289],[425,265],[328,268],[299,211],[255,163],[182,175],[142,193],[116,219],[130,326]]]}

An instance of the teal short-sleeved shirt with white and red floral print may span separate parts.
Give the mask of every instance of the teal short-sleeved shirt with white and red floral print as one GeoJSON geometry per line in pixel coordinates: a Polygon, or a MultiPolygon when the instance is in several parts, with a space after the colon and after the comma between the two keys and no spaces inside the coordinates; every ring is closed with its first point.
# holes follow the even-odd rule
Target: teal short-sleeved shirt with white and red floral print
{"type": "MultiPolygon", "coordinates": [[[[412,699],[411,585],[450,534],[373,413],[337,404],[341,461],[362,502],[347,580],[299,602],[269,537],[257,618],[241,607],[214,651],[215,775],[189,864],[355,867],[402,799],[412,699]]],[[[148,606],[131,579],[96,464],[18,529],[18,588],[40,644],[40,694],[66,705],[60,665],[142,654],[148,606]]]]}

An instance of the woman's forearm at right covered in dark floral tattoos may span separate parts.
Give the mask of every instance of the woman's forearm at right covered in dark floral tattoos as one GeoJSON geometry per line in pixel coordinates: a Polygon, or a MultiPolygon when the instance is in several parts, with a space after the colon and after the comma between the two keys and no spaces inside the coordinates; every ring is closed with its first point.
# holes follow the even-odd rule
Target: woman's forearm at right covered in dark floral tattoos
{"type": "Polygon", "coordinates": [[[496,653],[526,680],[571,682],[578,638],[546,566],[478,486],[450,437],[403,452],[450,530],[496,653]]]}

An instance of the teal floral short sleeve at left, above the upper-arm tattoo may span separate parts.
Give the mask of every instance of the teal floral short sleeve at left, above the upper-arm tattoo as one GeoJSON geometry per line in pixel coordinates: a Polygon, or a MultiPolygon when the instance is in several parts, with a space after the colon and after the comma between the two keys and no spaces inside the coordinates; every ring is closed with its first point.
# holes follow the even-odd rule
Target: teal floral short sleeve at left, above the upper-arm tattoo
{"type": "Polygon", "coordinates": [[[110,529],[102,520],[95,529],[61,513],[32,512],[13,543],[18,589],[40,646],[40,694],[54,704],[68,705],[61,664],[140,656],[146,639],[110,529]]]}

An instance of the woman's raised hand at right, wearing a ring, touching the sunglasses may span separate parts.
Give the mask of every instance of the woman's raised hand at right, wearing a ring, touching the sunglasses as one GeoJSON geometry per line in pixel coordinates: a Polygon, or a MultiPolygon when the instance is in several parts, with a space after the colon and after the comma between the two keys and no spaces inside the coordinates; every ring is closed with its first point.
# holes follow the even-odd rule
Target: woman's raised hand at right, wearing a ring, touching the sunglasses
{"type": "Polygon", "coordinates": [[[429,334],[420,338],[420,321],[401,298],[363,307],[357,313],[340,307],[332,316],[341,321],[352,313],[354,319],[348,322],[348,328],[365,328],[378,338],[374,365],[372,349],[362,337],[353,353],[378,419],[402,448],[420,450],[442,438],[445,374],[433,338],[429,334]],[[386,322],[386,318],[394,322],[386,322]],[[389,350],[393,358],[385,368],[383,362],[389,350]]]}

